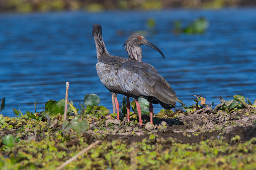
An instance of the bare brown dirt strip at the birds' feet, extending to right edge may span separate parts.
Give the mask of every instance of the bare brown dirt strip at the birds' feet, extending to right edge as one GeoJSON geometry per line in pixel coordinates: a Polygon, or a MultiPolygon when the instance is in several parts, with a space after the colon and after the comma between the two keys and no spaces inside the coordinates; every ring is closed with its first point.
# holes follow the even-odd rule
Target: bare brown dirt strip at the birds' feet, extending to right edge
{"type": "MultiPolygon", "coordinates": [[[[242,112],[218,112],[213,113],[193,113],[187,115],[180,115],[175,119],[161,119],[156,122],[154,128],[148,131],[156,134],[158,138],[172,137],[179,143],[199,143],[202,140],[214,139],[223,136],[224,142],[229,142],[236,135],[240,136],[239,142],[245,142],[252,137],[256,137],[256,115],[244,114],[248,110],[244,109],[242,112]],[[162,128],[161,123],[166,122],[167,128],[162,128]]],[[[149,117],[144,117],[144,120],[149,120],[149,117]]],[[[154,122],[155,123],[155,122],[154,122]]],[[[141,142],[149,134],[145,133],[145,129],[140,128],[138,125],[126,127],[128,132],[118,134],[108,134],[105,140],[123,139],[127,143],[141,142]],[[130,135],[129,131],[134,131],[136,135],[130,135]]],[[[116,126],[116,129],[123,130],[125,127],[116,126]]],[[[91,133],[93,130],[89,130],[86,133],[91,133]]],[[[127,131],[127,130],[126,130],[127,131]]]]}

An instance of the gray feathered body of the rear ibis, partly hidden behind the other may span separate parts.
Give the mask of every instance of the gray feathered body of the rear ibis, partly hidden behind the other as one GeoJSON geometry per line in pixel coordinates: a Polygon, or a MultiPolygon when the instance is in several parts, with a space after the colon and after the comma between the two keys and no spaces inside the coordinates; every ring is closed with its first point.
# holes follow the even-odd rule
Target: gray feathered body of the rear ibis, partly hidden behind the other
{"type": "Polygon", "coordinates": [[[103,60],[96,64],[96,70],[102,84],[113,93],[125,94],[120,85],[117,70],[127,59],[107,55],[103,60]]]}

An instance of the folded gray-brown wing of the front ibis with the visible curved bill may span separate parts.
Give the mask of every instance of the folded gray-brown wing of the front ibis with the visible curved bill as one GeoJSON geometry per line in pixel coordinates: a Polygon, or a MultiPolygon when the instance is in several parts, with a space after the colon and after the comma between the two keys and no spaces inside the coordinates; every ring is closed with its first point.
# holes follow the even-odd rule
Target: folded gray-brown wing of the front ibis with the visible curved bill
{"type": "Polygon", "coordinates": [[[127,61],[118,70],[118,77],[123,89],[131,96],[151,96],[167,104],[178,100],[176,92],[166,80],[147,63],[127,61]]]}

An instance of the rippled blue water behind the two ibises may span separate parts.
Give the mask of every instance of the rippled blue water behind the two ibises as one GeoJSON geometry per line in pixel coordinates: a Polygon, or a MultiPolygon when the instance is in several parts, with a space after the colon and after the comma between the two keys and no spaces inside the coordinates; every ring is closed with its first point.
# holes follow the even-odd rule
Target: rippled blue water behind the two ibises
{"type": "MultiPolygon", "coordinates": [[[[65,97],[67,81],[75,107],[84,95],[96,93],[100,105],[112,112],[111,93],[95,69],[92,26],[102,25],[110,54],[127,57],[124,42],[132,33],[148,30],[149,18],[156,27],[144,36],[165,59],[141,46],[143,61],[157,69],[186,105],[195,103],[193,95],[215,104],[219,95],[256,99],[256,9],[0,14],[0,98],[6,98],[1,114],[14,117],[12,108],[33,112],[35,101],[37,111],[43,111],[46,101],[65,97]],[[173,34],[175,20],[185,27],[198,17],[210,23],[205,34],[173,34]]],[[[161,109],[153,106],[155,113],[161,109]]]]}

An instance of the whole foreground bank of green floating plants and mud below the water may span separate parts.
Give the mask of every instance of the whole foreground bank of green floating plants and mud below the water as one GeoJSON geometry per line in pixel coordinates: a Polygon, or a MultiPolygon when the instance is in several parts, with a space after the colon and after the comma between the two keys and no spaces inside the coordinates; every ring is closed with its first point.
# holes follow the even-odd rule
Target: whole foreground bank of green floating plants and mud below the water
{"type": "MultiPolygon", "coordinates": [[[[96,94],[84,96],[80,108],[64,99],[49,100],[45,110],[16,117],[0,114],[1,169],[253,169],[256,166],[256,100],[235,95],[220,104],[195,104],[184,110],[164,110],[153,117],[154,125],[140,127],[136,107],[131,122],[119,121],[99,106],[96,94]],[[230,110],[231,109],[231,110],[230,110]],[[135,112],[135,113],[134,113],[135,112]]],[[[123,99],[125,108],[127,99],[123,99]]],[[[148,102],[142,120],[149,122],[148,102]]],[[[177,105],[178,106],[178,105],[177,105]]],[[[126,109],[123,109],[126,110],[126,109]]],[[[122,112],[125,114],[125,112],[122,112]]]]}

